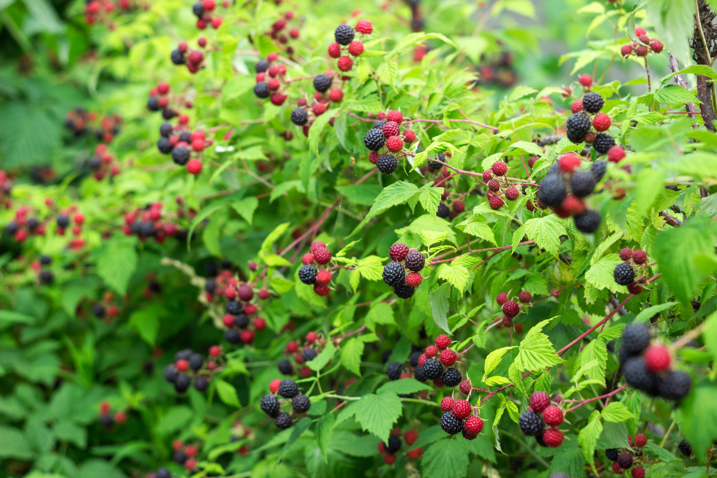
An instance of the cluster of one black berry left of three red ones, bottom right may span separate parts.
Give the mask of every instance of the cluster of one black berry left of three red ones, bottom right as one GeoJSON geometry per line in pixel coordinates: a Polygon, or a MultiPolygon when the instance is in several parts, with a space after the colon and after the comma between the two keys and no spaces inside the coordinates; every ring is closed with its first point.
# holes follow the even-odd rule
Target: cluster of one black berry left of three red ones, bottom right
{"type": "Polygon", "coordinates": [[[518,417],[523,434],[535,436],[540,446],[551,448],[563,443],[563,432],[556,428],[562,423],[563,411],[557,404],[551,404],[550,396],[543,391],[531,393],[528,410],[518,417]]]}

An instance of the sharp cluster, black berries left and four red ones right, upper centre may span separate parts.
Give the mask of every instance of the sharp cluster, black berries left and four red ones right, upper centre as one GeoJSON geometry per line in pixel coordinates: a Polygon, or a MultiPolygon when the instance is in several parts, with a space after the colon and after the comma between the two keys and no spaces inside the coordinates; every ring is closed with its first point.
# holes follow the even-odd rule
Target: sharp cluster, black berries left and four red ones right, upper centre
{"type": "Polygon", "coordinates": [[[404,149],[404,141],[408,144],[413,143],[416,140],[416,133],[413,130],[404,130],[401,134],[404,117],[399,110],[381,112],[377,118],[379,119],[374,123],[374,127],[364,135],[364,145],[370,151],[371,164],[375,164],[381,173],[391,174],[399,165],[397,156],[391,153],[401,153],[404,149]],[[384,148],[386,152],[381,153],[384,148]]]}

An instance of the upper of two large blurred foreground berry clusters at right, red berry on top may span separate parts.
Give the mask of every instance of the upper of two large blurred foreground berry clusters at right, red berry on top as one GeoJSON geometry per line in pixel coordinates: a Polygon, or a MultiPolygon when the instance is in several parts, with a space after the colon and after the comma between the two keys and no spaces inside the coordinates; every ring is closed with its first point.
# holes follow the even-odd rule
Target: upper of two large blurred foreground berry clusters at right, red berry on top
{"type": "Polygon", "coordinates": [[[560,217],[573,216],[579,231],[592,233],[600,225],[600,214],[587,209],[584,198],[592,194],[605,173],[605,162],[596,161],[588,170],[579,170],[580,156],[562,155],[538,188],[538,206],[551,208],[560,217]]]}

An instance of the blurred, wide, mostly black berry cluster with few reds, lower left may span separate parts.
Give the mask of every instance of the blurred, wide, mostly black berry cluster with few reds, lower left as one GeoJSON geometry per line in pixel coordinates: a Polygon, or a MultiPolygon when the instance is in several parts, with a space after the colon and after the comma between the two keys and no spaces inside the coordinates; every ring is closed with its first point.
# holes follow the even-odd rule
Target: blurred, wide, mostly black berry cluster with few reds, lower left
{"type": "Polygon", "coordinates": [[[194,388],[203,392],[209,386],[209,380],[214,373],[219,371],[217,359],[222,355],[222,348],[219,345],[212,345],[209,348],[209,358],[204,362],[201,353],[195,353],[187,348],[179,350],[174,355],[174,363],[164,368],[164,379],[174,384],[174,389],[179,393],[186,392],[194,378],[194,388]]]}

